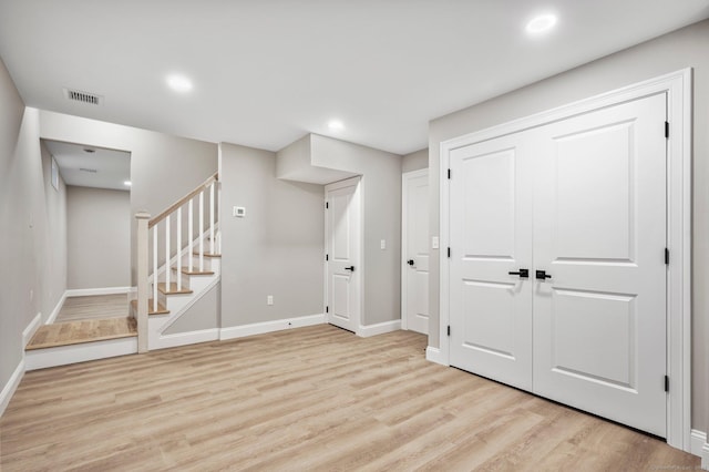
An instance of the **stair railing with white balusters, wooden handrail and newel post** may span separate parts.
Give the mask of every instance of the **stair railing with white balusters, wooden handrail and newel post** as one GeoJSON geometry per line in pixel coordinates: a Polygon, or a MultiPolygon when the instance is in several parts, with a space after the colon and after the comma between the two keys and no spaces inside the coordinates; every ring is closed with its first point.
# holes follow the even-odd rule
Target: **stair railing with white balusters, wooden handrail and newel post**
{"type": "Polygon", "coordinates": [[[135,215],[137,219],[137,336],[138,336],[138,352],[146,352],[147,348],[147,314],[150,311],[151,306],[150,296],[152,295],[152,309],[153,311],[157,311],[158,309],[158,294],[157,294],[157,285],[160,279],[160,247],[158,247],[158,233],[161,226],[163,227],[164,233],[164,283],[165,290],[171,291],[172,288],[172,267],[171,260],[173,257],[173,253],[175,254],[176,259],[176,275],[175,275],[175,286],[177,291],[182,291],[183,289],[183,254],[188,255],[187,257],[187,270],[188,273],[194,271],[194,256],[198,258],[199,271],[204,271],[204,257],[205,257],[205,245],[204,245],[204,224],[205,224],[205,193],[209,193],[209,207],[208,215],[209,220],[207,222],[209,225],[209,250],[210,255],[218,254],[220,252],[220,247],[218,247],[218,242],[215,238],[215,225],[216,225],[216,205],[218,204],[220,196],[220,188],[218,182],[218,174],[214,174],[205,182],[199,184],[195,189],[189,192],[184,197],[179,198],[177,202],[172,204],[167,209],[162,212],[160,215],[155,216],[151,219],[151,215],[146,212],[138,212],[135,215]],[[195,212],[195,204],[197,205],[197,212],[195,212]],[[185,230],[183,224],[183,208],[186,207],[187,212],[187,247],[186,249],[183,247],[183,232],[185,230]],[[194,234],[194,219],[195,213],[197,213],[197,224],[198,224],[198,233],[194,234]],[[175,217],[175,225],[172,224],[173,216],[175,217]],[[161,225],[161,223],[163,223],[161,225]],[[152,237],[151,237],[152,232],[152,237]],[[175,246],[172,246],[172,234],[175,235],[175,246]],[[195,236],[197,237],[197,252],[195,253],[194,240],[195,236]],[[152,261],[153,261],[153,278],[152,278],[152,288],[151,280],[148,275],[148,260],[150,260],[150,242],[152,238],[152,261]]]}

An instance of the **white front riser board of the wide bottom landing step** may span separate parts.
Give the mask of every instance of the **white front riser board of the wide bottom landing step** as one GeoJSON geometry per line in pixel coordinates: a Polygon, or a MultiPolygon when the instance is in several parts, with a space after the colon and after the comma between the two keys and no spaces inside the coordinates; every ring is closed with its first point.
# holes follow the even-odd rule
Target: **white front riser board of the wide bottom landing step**
{"type": "Polygon", "coordinates": [[[55,348],[33,349],[24,353],[27,370],[66,366],[107,357],[126,356],[137,352],[137,338],[109,339],[55,348]]]}

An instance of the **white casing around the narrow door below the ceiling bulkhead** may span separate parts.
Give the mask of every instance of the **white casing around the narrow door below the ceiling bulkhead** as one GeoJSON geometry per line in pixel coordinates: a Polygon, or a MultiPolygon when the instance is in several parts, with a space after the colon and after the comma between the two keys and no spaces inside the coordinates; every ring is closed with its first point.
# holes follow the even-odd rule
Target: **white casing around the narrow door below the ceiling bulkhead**
{"type": "Polygon", "coordinates": [[[328,233],[328,228],[329,228],[329,217],[330,217],[330,213],[328,212],[328,208],[326,207],[327,203],[328,203],[328,191],[330,189],[338,189],[338,188],[342,188],[342,187],[347,187],[347,186],[351,186],[351,184],[354,184],[354,195],[352,196],[352,198],[356,198],[358,201],[359,204],[359,214],[357,215],[359,218],[359,247],[358,247],[358,253],[359,253],[359,261],[356,266],[356,270],[352,273],[352,277],[357,277],[357,280],[359,283],[359,311],[357,312],[357,319],[354,320],[354,326],[357,327],[354,334],[357,336],[361,336],[361,329],[362,329],[362,314],[364,312],[364,196],[363,196],[363,176],[358,175],[354,177],[348,177],[345,178],[342,181],[337,181],[337,182],[331,182],[329,184],[325,185],[323,188],[323,204],[322,204],[322,211],[325,212],[325,253],[322,254],[322,268],[323,268],[323,288],[325,290],[322,291],[322,312],[325,314],[325,322],[330,322],[330,314],[326,312],[326,307],[329,306],[329,296],[330,296],[330,290],[329,290],[329,284],[328,284],[328,265],[329,261],[326,260],[326,255],[329,254],[330,250],[330,239],[329,239],[329,233],[328,233]]]}

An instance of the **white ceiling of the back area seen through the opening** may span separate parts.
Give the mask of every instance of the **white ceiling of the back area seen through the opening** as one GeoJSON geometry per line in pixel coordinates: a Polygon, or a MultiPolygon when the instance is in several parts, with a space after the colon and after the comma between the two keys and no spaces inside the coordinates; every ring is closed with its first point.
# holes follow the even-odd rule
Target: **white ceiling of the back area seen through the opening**
{"type": "Polygon", "coordinates": [[[43,143],[54,156],[66,185],[131,189],[124,184],[131,179],[131,153],[50,140],[43,140],[43,143]]]}

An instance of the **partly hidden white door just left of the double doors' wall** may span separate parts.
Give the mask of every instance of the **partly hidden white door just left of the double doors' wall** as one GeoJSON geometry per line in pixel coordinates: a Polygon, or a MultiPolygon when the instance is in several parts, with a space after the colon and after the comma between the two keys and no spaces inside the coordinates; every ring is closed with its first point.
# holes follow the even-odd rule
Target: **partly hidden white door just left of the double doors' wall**
{"type": "Polygon", "coordinates": [[[403,174],[403,326],[429,334],[429,170],[403,174]]]}

